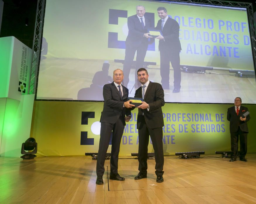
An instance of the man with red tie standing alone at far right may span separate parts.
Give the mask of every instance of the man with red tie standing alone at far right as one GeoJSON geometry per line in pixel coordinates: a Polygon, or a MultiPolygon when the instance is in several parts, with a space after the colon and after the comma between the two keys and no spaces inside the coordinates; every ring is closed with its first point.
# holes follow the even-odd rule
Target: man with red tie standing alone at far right
{"type": "Polygon", "coordinates": [[[248,126],[247,122],[250,120],[250,115],[243,116],[248,108],[241,105],[242,99],[240,97],[235,98],[235,106],[228,108],[227,120],[230,122],[229,129],[231,135],[231,151],[232,156],[229,161],[236,161],[238,156],[238,136],[240,137],[240,161],[247,161],[245,155],[247,152],[247,134],[248,126]]]}

